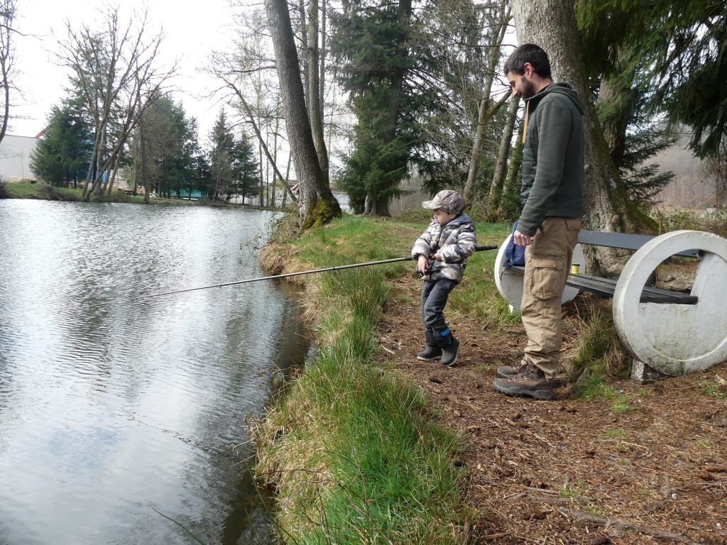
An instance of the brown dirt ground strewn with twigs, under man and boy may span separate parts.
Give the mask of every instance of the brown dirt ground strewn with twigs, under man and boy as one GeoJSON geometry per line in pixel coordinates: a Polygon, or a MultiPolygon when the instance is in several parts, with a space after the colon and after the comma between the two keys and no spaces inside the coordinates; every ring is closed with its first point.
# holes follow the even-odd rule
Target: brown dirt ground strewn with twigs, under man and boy
{"type": "MultiPolygon", "coordinates": [[[[395,281],[413,303],[419,282],[395,281]]],[[[574,308],[566,307],[566,315],[574,308]]],[[[521,326],[483,328],[450,320],[461,340],[454,368],[419,362],[417,306],[392,304],[381,329],[382,363],[411,376],[443,427],[463,437],[456,463],[478,517],[478,544],[727,544],[727,400],[701,392],[727,379],[727,364],[640,385],[611,385],[629,410],[571,397],[508,397],[491,382],[518,363],[521,326]]]]}

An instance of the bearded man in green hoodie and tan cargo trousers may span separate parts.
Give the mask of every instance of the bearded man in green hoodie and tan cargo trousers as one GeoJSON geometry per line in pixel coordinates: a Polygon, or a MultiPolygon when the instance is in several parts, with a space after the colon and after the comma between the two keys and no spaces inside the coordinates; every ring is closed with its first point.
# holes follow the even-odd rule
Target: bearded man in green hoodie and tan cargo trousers
{"type": "Polygon", "coordinates": [[[528,335],[518,366],[501,366],[498,392],[552,399],[563,335],[561,298],[578,241],[583,198],[583,111],[575,89],[553,83],[545,51],[533,44],[505,62],[515,97],[526,104],[523,211],[513,233],[526,246],[521,315],[528,335]]]}

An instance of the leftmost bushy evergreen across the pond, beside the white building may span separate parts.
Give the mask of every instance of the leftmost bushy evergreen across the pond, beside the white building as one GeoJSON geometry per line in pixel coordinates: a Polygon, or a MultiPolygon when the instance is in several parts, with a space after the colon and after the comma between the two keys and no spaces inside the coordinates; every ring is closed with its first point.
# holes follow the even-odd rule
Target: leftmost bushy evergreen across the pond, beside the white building
{"type": "Polygon", "coordinates": [[[54,106],[48,127],[31,155],[31,169],[54,186],[68,187],[84,179],[93,152],[94,136],[78,99],[54,106]]]}

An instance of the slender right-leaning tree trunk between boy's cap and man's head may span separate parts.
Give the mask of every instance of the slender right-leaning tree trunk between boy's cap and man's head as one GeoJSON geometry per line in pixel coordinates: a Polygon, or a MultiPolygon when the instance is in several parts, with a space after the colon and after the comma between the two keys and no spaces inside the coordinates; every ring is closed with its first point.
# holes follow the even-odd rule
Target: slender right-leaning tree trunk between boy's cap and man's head
{"type": "Polygon", "coordinates": [[[500,48],[502,40],[505,39],[505,31],[507,31],[507,23],[510,22],[510,8],[507,2],[502,1],[500,4],[499,27],[494,31],[495,43],[490,45],[490,57],[487,63],[487,73],[485,74],[485,84],[482,89],[482,99],[480,100],[480,108],[477,113],[477,129],[475,130],[475,139],[472,143],[472,153],[470,154],[470,171],[467,173],[467,182],[465,183],[465,203],[471,203],[475,196],[475,182],[480,169],[480,161],[482,158],[482,143],[485,139],[485,126],[495,111],[494,108],[488,110],[490,103],[490,92],[492,90],[492,80],[497,70],[499,62],[500,48]]]}

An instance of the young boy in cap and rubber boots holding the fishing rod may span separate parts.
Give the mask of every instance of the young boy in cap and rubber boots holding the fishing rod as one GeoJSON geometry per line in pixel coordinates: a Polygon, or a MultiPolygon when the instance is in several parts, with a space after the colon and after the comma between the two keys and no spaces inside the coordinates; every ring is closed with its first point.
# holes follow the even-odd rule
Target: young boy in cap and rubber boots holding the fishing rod
{"type": "Polygon", "coordinates": [[[451,367],[457,361],[459,341],[449,331],[443,311],[449,292],[462,280],[467,257],[475,252],[475,224],[462,214],[465,199],[456,191],[442,190],[422,206],[434,210],[434,219],[411,249],[424,280],[422,321],[427,347],[417,360],[441,360],[443,366],[451,367]]]}

